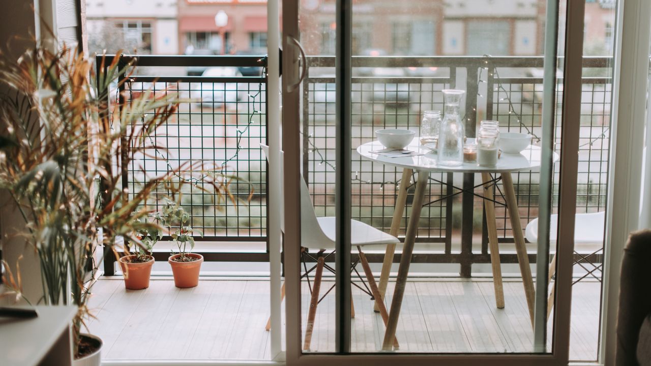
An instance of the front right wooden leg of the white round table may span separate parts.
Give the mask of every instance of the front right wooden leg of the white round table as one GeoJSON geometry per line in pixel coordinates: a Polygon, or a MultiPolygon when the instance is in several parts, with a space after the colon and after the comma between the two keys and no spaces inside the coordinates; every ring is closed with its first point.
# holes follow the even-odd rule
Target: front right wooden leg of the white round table
{"type": "Polygon", "coordinates": [[[504,186],[504,193],[506,195],[505,198],[506,208],[508,208],[508,217],[511,221],[513,238],[516,244],[516,253],[518,253],[518,263],[520,265],[520,273],[522,275],[522,285],[525,287],[525,296],[527,297],[527,306],[529,307],[529,318],[531,318],[531,326],[533,326],[536,289],[533,285],[533,277],[531,276],[531,266],[529,266],[529,256],[527,255],[525,238],[522,234],[522,225],[520,223],[520,214],[518,212],[518,200],[516,199],[516,191],[513,188],[513,178],[511,176],[511,173],[502,173],[502,183],[504,186]]]}

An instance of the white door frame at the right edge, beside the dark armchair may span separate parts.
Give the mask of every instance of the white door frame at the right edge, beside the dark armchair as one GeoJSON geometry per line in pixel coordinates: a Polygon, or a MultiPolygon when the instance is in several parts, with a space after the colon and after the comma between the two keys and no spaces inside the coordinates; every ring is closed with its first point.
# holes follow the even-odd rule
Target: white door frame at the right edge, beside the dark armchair
{"type": "Polygon", "coordinates": [[[615,364],[624,245],[628,233],[639,229],[651,2],[620,0],[617,11],[599,358],[604,365],[615,364]]]}

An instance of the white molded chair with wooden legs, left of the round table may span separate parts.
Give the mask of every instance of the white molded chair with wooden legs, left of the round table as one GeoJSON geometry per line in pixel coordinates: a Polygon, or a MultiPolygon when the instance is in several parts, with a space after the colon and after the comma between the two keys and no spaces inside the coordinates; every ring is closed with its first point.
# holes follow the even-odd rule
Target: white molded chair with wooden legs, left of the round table
{"type": "MultiPolygon", "coordinates": [[[[269,159],[269,147],[267,145],[260,144],[264,154],[269,159]]],[[[281,151],[281,172],[284,171],[283,167],[283,152],[281,151]]],[[[284,180],[281,178],[281,191],[284,194],[284,180]]],[[[301,257],[303,260],[307,258],[316,260],[316,266],[307,270],[305,274],[301,275],[302,277],[307,277],[309,281],[309,273],[312,270],[315,270],[314,281],[311,286],[311,302],[310,309],[307,317],[307,328],[305,329],[305,342],[303,343],[303,350],[310,349],[310,343],[312,338],[312,330],[314,330],[314,319],[316,318],[316,306],[322,300],[319,298],[319,291],[321,285],[321,278],[323,274],[324,267],[327,270],[331,270],[329,266],[325,264],[326,258],[333,253],[335,250],[335,217],[323,217],[317,218],[316,213],[314,212],[314,206],[312,206],[312,201],[310,199],[310,191],[305,184],[305,180],[301,179],[301,257]],[[316,255],[309,253],[309,249],[318,250],[316,255]]],[[[281,200],[281,211],[284,212],[284,204],[281,200]]],[[[284,232],[284,215],[281,216],[281,230],[284,232]]],[[[357,247],[359,252],[359,262],[361,262],[365,277],[367,277],[368,286],[370,287],[370,293],[367,290],[359,287],[357,284],[353,285],[359,287],[359,289],[367,292],[372,299],[375,300],[378,309],[380,310],[380,315],[385,325],[389,318],[387,309],[384,305],[383,299],[380,295],[380,290],[376,285],[375,279],[372,272],[370,271],[370,266],[368,261],[361,249],[363,246],[368,245],[378,245],[378,244],[398,244],[400,240],[391,234],[380,231],[370,225],[367,225],[361,221],[351,220],[351,244],[352,247],[357,247]]],[[[305,263],[305,262],[304,262],[305,263]]],[[[357,261],[353,262],[353,267],[351,270],[355,269],[357,261]]],[[[360,279],[361,276],[360,276],[360,279]]],[[[363,280],[363,279],[362,279],[363,280]]],[[[329,290],[327,291],[329,292],[329,290]]],[[[326,292],[326,294],[327,294],[326,292]]],[[[324,295],[325,296],[325,295],[324,295]]],[[[281,290],[281,301],[284,298],[284,283],[281,290]]],[[[351,306],[352,306],[351,302],[351,306]]],[[[355,317],[355,311],[352,308],[352,316],[355,317]]],[[[266,330],[270,329],[270,321],[267,322],[266,330]]],[[[394,346],[398,349],[398,342],[394,340],[394,346]]]]}

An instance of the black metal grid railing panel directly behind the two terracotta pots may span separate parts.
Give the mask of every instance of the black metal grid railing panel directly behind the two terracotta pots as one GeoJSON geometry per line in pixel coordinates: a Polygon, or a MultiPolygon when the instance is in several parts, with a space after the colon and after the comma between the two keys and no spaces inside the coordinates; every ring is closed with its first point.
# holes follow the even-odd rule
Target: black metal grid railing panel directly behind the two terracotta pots
{"type": "MultiPolygon", "coordinates": [[[[175,95],[180,103],[174,116],[148,136],[149,143],[159,148],[135,156],[128,167],[130,194],[137,192],[148,176],[196,162],[208,171],[182,171],[175,180],[189,183],[177,200],[191,214],[192,227],[204,233],[198,239],[264,238],[266,159],[260,143],[266,142],[266,84],[215,78],[155,82],[155,78],[136,76],[133,80],[126,85],[127,102],[152,89],[153,96],[175,95]],[[217,193],[201,179],[219,180],[220,175],[229,182],[232,197],[217,193]]],[[[160,210],[167,196],[167,191],[156,192],[148,202],[150,208],[160,210]]]]}

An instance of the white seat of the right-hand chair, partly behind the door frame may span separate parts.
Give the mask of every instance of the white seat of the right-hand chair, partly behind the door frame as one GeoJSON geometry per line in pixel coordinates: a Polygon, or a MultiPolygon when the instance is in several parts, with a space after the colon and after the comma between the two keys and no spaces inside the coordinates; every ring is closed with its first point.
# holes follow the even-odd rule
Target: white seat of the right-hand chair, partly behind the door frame
{"type": "MultiPolygon", "coordinates": [[[[559,216],[553,214],[550,217],[549,242],[556,243],[558,237],[559,216]]],[[[603,230],[605,225],[605,211],[593,212],[590,214],[576,214],[574,221],[574,243],[575,244],[596,244],[603,242],[603,230]]],[[[527,224],[525,237],[531,243],[538,242],[538,219],[533,219],[527,224]]]]}

